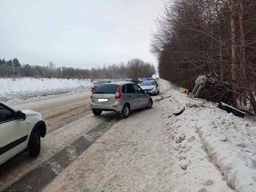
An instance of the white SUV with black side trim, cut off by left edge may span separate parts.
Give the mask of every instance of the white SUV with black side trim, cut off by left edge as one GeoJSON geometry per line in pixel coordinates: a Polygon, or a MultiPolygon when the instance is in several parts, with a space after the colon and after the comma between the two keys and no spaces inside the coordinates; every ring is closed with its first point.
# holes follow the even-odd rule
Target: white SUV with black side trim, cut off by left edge
{"type": "Polygon", "coordinates": [[[41,113],[16,110],[0,101],[0,164],[18,153],[40,153],[40,136],[44,138],[46,124],[41,113]]]}

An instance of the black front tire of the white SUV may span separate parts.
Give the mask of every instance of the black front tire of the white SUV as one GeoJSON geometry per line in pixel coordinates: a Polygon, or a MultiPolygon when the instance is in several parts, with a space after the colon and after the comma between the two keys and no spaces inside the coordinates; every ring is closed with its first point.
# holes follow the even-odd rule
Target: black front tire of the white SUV
{"type": "Polygon", "coordinates": [[[40,129],[36,129],[32,135],[30,144],[29,144],[29,155],[30,156],[38,156],[41,148],[41,140],[40,140],[40,129]]]}

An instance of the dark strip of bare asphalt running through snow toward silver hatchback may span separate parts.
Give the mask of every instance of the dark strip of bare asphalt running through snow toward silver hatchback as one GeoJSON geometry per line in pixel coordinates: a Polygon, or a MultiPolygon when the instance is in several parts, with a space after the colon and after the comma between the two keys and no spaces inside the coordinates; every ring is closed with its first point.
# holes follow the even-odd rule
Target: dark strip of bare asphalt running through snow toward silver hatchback
{"type": "Polygon", "coordinates": [[[119,121],[117,116],[117,113],[111,113],[106,120],[89,130],[84,136],[76,139],[72,144],[3,189],[3,191],[41,191],[50,181],[66,169],[78,156],[119,121]]]}

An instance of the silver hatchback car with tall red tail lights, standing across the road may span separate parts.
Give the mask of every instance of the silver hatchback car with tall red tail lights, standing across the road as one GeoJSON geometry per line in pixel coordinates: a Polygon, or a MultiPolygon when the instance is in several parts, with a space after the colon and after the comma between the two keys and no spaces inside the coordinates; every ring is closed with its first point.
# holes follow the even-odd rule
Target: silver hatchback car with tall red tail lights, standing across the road
{"type": "Polygon", "coordinates": [[[113,82],[104,83],[93,90],[90,107],[94,115],[101,115],[102,111],[117,111],[122,118],[127,118],[130,110],[142,107],[150,109],[152,104],[148,92],[139,85],[113,82]]]}

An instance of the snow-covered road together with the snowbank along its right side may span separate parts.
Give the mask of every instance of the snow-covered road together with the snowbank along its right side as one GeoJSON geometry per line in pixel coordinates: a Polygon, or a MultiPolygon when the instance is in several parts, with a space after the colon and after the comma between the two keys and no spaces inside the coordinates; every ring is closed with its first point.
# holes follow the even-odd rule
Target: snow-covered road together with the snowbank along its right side
{"type": "Polygon", "coordinates": [[[89,92],[15,105],[43,113],[48,130],[38,158],[1,167],[1,190],[255,191],[255,122],[159,83],[153,100],[167,98],[127,119],[92,115],[89,92]]]}

